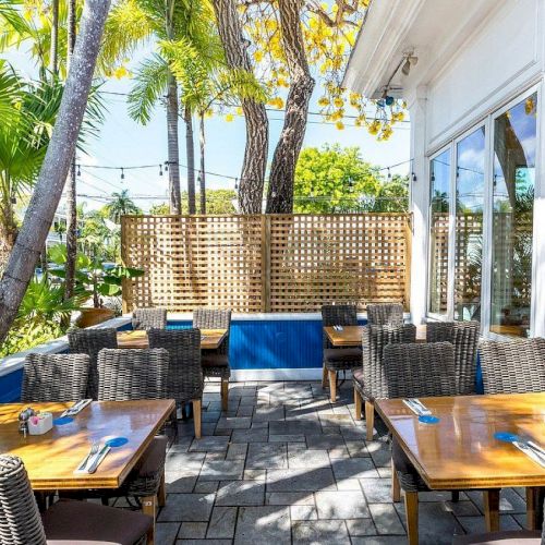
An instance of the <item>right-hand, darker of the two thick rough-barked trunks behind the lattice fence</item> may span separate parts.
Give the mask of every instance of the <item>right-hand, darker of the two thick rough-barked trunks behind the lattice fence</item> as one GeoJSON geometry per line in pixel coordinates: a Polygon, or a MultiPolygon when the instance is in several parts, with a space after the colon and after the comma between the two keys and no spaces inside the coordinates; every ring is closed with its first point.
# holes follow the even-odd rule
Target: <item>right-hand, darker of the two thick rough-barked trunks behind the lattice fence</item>
{"type": "Polygon", "coordinates": [[[314,80],[308,70],[301,31],[302,0],[278,0],[280,29],[291,86],[282,132],[275,149],[267,194],[267,214],[293,211],[295,166],[303,145],[314,80]]]}

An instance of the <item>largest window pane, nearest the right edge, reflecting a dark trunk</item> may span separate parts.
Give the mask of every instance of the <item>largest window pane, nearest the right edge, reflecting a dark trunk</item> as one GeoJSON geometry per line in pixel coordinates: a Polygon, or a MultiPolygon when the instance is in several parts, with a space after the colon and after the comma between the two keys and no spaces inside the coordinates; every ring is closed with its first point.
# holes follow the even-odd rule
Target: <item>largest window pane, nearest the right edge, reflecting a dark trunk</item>
{"type": "Polygon", "coordinates": [[[491,330],[530,329],[537,95],[495,121],[491,330]]]}

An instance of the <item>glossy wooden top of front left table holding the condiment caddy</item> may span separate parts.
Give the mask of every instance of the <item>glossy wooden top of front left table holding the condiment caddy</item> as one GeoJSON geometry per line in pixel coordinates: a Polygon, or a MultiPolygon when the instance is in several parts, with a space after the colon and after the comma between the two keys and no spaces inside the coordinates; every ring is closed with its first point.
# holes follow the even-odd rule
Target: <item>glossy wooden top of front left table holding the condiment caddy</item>
{"type": "Polygon", "coordinates": [[[174,400],[94,401],[73,422],[53,425],[44,435],[19,433],[19,413],[32,407],[58,417],[69,403],[0,404],[0,452],[23,459],[36,491],[117,488],[174,410],[174,400]],[[95,440],[126,437],[129,443],[112,448],[93,474],[74,470],[95,440]]]}

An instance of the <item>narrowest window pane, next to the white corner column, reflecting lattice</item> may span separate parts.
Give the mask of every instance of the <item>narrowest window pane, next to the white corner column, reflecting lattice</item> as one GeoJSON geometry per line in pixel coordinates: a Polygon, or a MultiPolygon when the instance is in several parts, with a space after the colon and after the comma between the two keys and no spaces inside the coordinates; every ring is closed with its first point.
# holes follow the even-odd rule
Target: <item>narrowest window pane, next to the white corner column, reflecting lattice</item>
{"type": "Polygon", "coordinates": [[[431,162],[429,312],[447,313],[450,152],[431,162]]]}

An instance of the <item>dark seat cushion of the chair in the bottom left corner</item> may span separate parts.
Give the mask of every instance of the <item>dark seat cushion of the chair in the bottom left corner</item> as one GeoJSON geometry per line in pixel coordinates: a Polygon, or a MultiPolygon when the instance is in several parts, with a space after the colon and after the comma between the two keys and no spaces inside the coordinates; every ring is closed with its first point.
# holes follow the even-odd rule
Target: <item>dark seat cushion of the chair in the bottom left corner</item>
{"type": "Polygon", "coordinates": [[[43,514],[49,545],[134,545],[153,524],[141,512],[61,499],[43,514]]]}

